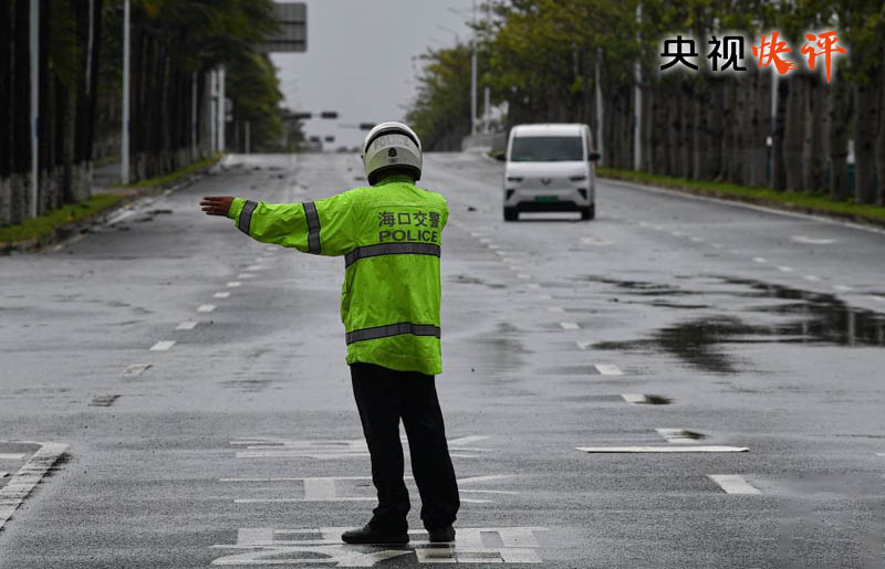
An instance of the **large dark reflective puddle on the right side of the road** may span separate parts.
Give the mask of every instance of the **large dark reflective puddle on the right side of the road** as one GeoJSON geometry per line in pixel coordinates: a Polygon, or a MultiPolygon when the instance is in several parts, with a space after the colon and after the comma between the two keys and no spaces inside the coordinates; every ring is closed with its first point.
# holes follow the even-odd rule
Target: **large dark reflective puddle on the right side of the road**
{"type": "MultiPolygon", "coordinates": [[[[735,358],[725,351],[728,344],[795,344],[834,346],[885,346],[885,314],[848,306],[832,294],[815,293],[749,278],[709,276],[714,287],[683,289],[638,281],[616,281],[584,276],[582,280],[613,284],[642,296],[707,296],[775,301],[745,305],[729,315],[710,315],[654,330],[649,337],[594,344],[596,349],[667,352],[689,366],[716,373],[738,372],[735,358]],[[721,285],[727,285],[723,288],[721,285]],[[737,288],[736,288],[737,287],[737,288]],[[787,301],[787,302],[784,302],[787,301]],[[748,322],[738,315],[774,318],[775,322],[748,322]]],[[[686,306],[658,299],[650,306],[685,309],[686,306]]],[[[710,302],[709,306],[716,306],[710,302]]],[[[693,306],[694,307],[694,306],[693,306]]]]}

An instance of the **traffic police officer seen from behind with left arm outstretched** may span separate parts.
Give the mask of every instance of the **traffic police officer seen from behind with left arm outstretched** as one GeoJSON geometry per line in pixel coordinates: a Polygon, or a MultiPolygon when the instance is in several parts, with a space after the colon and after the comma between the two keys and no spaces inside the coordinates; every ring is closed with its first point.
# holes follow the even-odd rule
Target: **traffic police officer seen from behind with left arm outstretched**
{"type": "Polygon", "coordinates": [[[424,526],[430,541],[451,541],[460,502],[434,379],[442,371],[439,252],[448,206],[415,186],[421,146],[406,125],[376,126],[362,150],[369,187],[305,203],[210,196],[200,206],[258,241],[344,256],[341,317],[378,506],[365,527],[342,539],[408,541],[402,419],[424,526]]]}

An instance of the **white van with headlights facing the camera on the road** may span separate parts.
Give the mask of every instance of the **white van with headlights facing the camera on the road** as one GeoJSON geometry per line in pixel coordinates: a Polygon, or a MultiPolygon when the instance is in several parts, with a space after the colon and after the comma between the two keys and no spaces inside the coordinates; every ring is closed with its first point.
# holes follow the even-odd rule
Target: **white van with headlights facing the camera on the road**
{"type": "Polygon", "coordinates": [[[521,211],[580,211],[581,219],[593,219],[598,158],[587,125],[514,126],[502,158],[504,221],[517,221],[521,211]]]}

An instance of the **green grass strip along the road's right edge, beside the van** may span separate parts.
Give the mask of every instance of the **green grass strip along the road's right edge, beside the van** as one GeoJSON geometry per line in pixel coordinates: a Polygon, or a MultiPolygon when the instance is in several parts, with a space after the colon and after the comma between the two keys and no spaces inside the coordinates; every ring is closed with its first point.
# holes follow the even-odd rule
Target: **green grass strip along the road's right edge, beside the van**
{"type": "Polygon", "coordinates": [[[636,170],[620,170],[616,168],[596,168],[596,173],[603,178],[635,181],[663,188],[683,190],[690,193],[711,196],[725,200],[746,201],[760,206],[803,211],[806,213],[831,214],[855,221],[872,222],[885,225],[885,207],[853,203],[850,201],[833,201],[827,196],[808,192],[785,192],[759,186],[740,186],[730,182],[688,180],[659,173],[648,173],[636,170]]]}

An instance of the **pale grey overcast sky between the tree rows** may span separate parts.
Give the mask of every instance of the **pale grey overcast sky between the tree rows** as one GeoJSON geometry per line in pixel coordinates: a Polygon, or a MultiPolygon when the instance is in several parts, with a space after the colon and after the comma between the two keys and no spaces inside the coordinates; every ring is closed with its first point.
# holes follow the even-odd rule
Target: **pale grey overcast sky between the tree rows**
{"type": "MultiPolygon", "coordinates": [[[[334,146],[365,136],[339,124],[403,119],[415,97],[427,48],[467,41],[472,0],[306,0],[308,51],[277,53],[285,104],[293,110],[337,110],[339,120],[311,119],[310,135],[334,135],[334,146]],[[446,29],[448,28],[448,30],[446,29]]],[[[329,146],[329,145],[326,145],[329,146]]]]}

